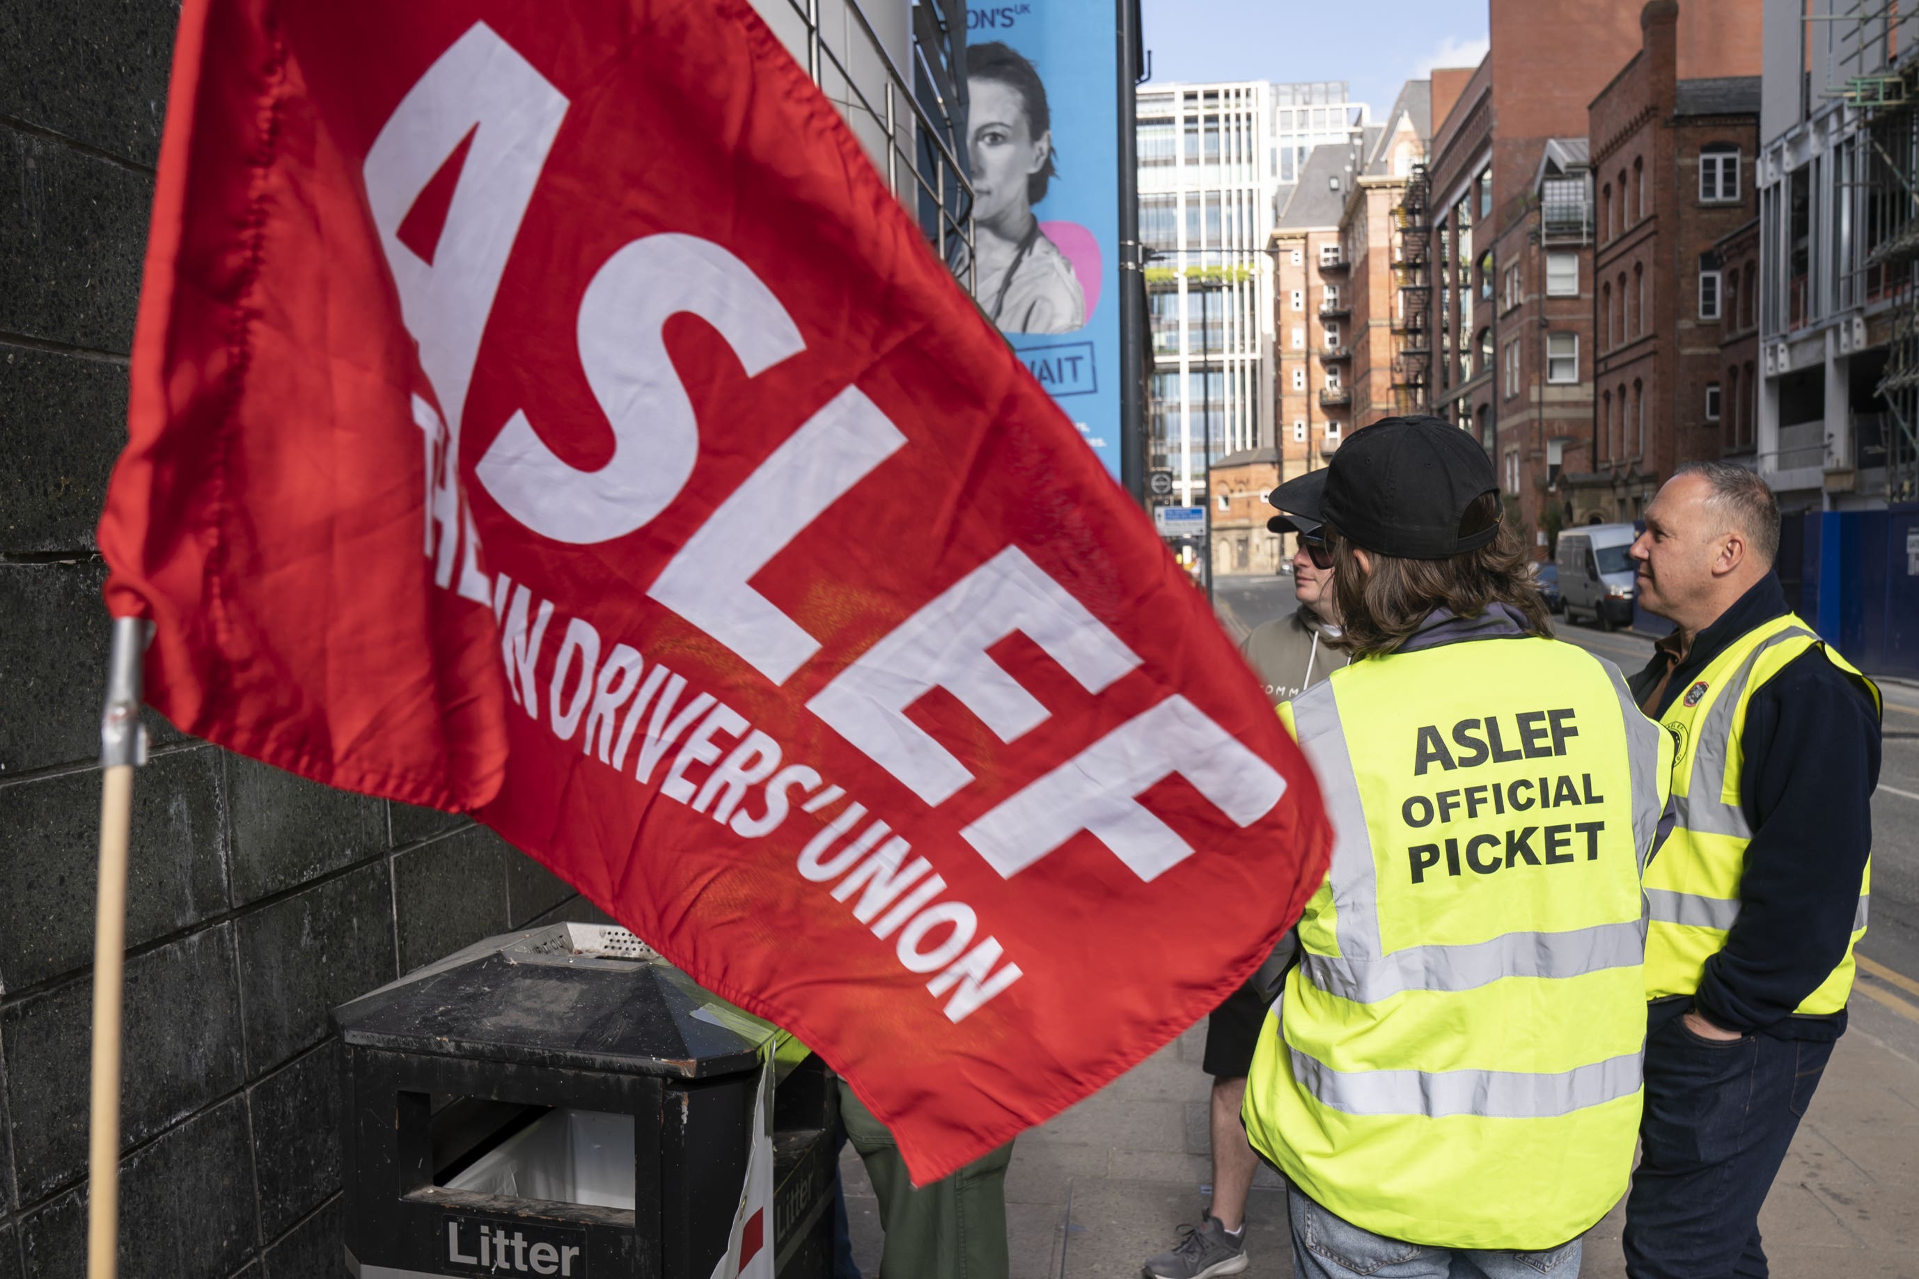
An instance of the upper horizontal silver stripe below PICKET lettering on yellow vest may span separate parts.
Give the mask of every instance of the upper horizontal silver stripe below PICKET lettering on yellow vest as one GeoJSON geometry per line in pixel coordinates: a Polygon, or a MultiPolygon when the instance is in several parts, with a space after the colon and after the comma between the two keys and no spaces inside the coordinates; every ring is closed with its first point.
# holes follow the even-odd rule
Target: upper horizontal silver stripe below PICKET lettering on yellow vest
{"type": "MultiPolygon", "coordinates": [[[[1501,978],[1575,978],[1641,963],[1639,920],[1572,932],[1508,932],[1472,945],[1410,945],[1376,959],[1303,955],[1307,980],[1328,995],[1376,1003],[1409,989],[1478,989],[1501,978]]],[[[1343,942],[1343,932],[1341,932],[1343,942]]]]}

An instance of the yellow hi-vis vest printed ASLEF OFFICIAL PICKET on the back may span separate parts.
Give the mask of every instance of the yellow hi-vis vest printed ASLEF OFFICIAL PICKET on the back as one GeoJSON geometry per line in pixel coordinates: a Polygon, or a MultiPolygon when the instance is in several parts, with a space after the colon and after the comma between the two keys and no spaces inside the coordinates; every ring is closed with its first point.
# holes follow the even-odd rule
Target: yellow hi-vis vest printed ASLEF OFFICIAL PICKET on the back
{"type": "Polygon", "coordinates": [[[1574,1239],[1633,1166],[1671,738],[1549,639],[1366,658],[1288,709],[1334,853],[1253,1057],[1253,1147],[1376,1235],[1574,1239]]]}

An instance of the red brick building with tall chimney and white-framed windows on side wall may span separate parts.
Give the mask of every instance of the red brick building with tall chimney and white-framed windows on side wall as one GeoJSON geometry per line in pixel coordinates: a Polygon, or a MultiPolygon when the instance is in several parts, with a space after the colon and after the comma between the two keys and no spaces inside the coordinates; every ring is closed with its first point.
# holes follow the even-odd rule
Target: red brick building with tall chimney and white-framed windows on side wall
{"type": "Polygon", "coordinates": [[[1572,523],[1637,520],[1677,466],[1723,453],[1718,245],[1758,209],[1741,157],[1758,144],[1760,17],[1735,8],[1710,33],[1750,42],[1752,75],[1681,79],[1681,8],[1650,0],[1641,52],[1589,109],[1597,385],[1593,464],[1556,489],[1572,523]]]}

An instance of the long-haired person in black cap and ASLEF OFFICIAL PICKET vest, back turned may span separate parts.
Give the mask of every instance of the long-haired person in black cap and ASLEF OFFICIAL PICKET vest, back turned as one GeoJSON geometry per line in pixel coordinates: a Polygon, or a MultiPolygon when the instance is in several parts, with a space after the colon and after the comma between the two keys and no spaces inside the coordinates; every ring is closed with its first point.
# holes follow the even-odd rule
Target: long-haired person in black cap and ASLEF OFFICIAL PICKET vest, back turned
{"type": "Polygon", "coordinates": [[[1468,433],[1368,426],[1305,500],[1353,663],[1280,708],[1336,844],[1247,1135],[1291,1183],[1301,1279],[1570,1279],[1633,1164],[1671,738],[1551,639],[1468,433]]]}

